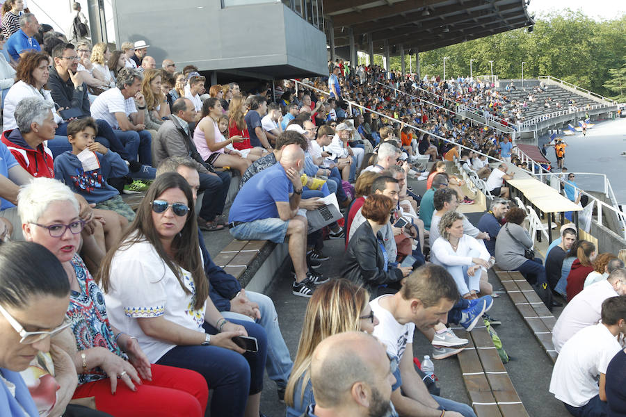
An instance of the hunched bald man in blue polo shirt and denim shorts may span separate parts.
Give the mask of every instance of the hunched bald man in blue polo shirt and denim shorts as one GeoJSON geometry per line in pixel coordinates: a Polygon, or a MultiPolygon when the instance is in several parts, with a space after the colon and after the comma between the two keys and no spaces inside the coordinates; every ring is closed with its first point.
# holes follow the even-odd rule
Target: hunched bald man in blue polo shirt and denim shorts
{"type": "Polygon", "coordinates": [[[289,236],[289,256],[296,281],[292,293],[311,297],[315,284],[328,281],[307,272],[307,218],[298,213],[305,153],[296,145],[282,149],[278,163],[250,178],[232,203],[230,234],[239,240],[271,240],[283,243],[289,236]]]}

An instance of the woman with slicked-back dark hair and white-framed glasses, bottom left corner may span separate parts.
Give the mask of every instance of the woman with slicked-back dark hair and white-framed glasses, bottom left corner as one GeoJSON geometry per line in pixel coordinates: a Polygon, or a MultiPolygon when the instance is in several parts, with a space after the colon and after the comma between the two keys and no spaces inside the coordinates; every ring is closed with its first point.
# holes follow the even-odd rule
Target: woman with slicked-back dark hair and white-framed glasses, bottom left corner
{"type": "Polygon", "coordinates": [[[49,352],[49,336],[67,328],[69,299],[63,267],[45,247],[29,242],[0,246],[0,416],[39,416],[19,373],[40,352],[49,352]]]}

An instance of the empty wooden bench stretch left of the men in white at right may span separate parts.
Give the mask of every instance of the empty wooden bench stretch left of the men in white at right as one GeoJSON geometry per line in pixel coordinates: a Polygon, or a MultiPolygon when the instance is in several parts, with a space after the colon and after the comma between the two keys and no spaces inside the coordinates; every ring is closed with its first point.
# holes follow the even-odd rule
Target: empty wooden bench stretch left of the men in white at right
{"type": "Polygon", "coordinates": [[[552,329],[556,324],[556,318],[547,309],[539,295],[533,290],[531,284],[518,271],[501,270],[497,265],[493,268],[502,286],[515,304],[515,309],[520,313],[537,341],[548,354],[552,362],[556,361],[558,354],[552,343],[552,329]]]}

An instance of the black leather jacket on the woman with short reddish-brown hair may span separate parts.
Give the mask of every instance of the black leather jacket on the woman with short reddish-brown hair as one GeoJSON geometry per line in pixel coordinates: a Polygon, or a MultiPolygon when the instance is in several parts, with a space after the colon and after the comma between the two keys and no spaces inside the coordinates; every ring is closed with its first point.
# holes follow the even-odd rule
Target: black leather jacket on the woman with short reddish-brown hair
{"type": "MultiPolygon", "coordinates": [[[[379,238],[382,240],[382,236],[379,238]]],[[[393,260],[391,260],[393,261],[393,260]]],[[[402,280],[402,271],[389,266],[385,272],[385,257],[369,222],[364,222],[355,231],[348,243],[342,276],[357,285],[362,285],[372,297],[378,293],[378,286],[402,280]]]]}

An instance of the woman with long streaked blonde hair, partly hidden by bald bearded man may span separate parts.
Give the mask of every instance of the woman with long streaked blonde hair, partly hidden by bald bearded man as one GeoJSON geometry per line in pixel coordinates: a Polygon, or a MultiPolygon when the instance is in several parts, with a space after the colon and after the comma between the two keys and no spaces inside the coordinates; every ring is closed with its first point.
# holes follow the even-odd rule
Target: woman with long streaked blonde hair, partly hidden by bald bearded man
{"type": "MultiPolygon", "coordinates": [[[[291,371],[284,393],[287,417],[302,416],[308,405],[315,402],[309,372],[315,347],[333,334],[342,332],[372,334],[376,325],[378,319],[371,311],[369,293],[365,288],[347,279],[335,279],[316,288],[307,305],[294,369],[291,371]]],[[[393,359],[394,372],[397,366],[397,360],[393,359]]],[[[393,389],[397,389],[398,386],[399,383],[396,382],[393,389]]],[[[397,416],[396,411],[393,410],[390,416],[397,416]]]]}

